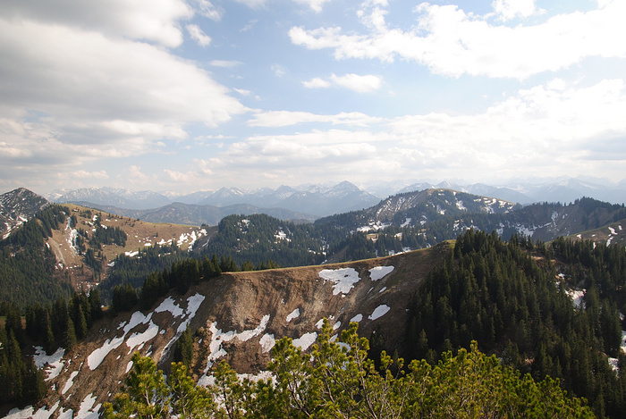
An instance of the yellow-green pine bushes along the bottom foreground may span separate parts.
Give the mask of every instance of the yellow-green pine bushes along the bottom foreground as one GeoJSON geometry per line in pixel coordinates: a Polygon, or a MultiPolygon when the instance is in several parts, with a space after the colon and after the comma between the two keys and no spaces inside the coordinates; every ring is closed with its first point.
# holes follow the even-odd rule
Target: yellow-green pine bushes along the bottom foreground
{"type": "Polygon", "coordinates": [[[358,324],[331,338],[325,321],[312,353],[281,339],[267,370],[273,379],[240,379],[224,361],[215,384],[194,386],[184,365],[165,380],[150,358],[135,353],[125,389],[105,404],[106,418],[418,418],[594,417],[580,398],[568,398],[559,382],[535,382],[486,356],[472,342],[468,352],[444,354],[436,366],[381,355],[380,370],[368,358],[358,324]]]}

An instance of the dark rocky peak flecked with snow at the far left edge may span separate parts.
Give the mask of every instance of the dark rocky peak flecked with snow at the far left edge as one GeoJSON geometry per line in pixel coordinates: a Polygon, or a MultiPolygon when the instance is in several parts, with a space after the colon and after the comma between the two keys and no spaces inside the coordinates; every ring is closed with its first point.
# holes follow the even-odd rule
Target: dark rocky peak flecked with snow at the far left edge
{"type": "Polygon", "coordinates": [[[39,197],[29,189],[13,189],[0,195],[0,237],[7,237],[11,230],[29,221],[46,205],[45,197],[39,197]]]}

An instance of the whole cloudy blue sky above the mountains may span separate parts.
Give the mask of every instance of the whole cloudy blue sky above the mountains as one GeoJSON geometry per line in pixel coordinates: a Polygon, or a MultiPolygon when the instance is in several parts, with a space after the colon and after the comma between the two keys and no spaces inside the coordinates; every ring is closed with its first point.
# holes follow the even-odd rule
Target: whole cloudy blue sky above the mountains
{"type": "Polygon", "coordinates": [[[626,178],[623,0],[3,0],[0,190],[626,178]]]}

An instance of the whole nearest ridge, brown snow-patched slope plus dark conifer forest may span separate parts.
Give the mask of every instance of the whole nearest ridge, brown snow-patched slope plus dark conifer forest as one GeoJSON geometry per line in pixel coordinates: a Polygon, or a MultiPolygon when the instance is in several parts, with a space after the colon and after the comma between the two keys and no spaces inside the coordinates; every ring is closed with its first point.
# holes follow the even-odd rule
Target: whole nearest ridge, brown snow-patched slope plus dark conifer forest
{"type": "MultiPolygon", "coordinates": [[[[398,357],[404,357],[405,365],[411,359],[423,359],[419,371],[428,377],[425,383],[451,377],[459,389],[470,386],[471,394],[491,403],[491,409],[499,408],[495,403],[499,398],[491,392],[490,383],[520,380],[512,387],[517,389],[515,394],[534,388],[530,383],[535,381],[533,399],[550,402],[533,407],[537,410],[531,417],[546,415],[547,406],[563,400],[563,390],[570,397],[586,398],[600,417],[626,415],[626,356],[621,348],[624,247],[569,239],[535,243],[516,236],[505,241],[495,232],[468,230],[456,242],[346,264],[223,274],[209,261],[208,268],[211,265],[214,269],[207,270],[205,264],[200,269],[199,264],[185,262],[150,276],[140,298],[135,295],[136,306],[131,302],[120,308],[129,310],[127,313],[94,323],[85,340],[63,352],[57,361],[60,366],[55,377],[47,381],[51,389],[44,399],[45,409],[61,407],[76,412],[84,404],[85,410],[98,412],[101,404],[112,401],[123,375],[131,369],[143,371],[145,380],[156,373],[157,365],[166,373],[180,373],[170,369],[171,360],[180,360],[189,368],[191,378],[184,379],[188,389],[193,380],[215,390],[210,387],[216,383],[212,377],[218,371],[224,373],[224,365],[218,366],[224,359],[239,373],[265,371],[260,377],[269,378],[267,370],[275,368],[275,364],[267,364],[271,358],[295,356],[290,358],[295,364],[287,364],[283,373],[317,377],[318,366],[326,364],[309,363],[317,362],[320,352],[313,352],[311,358],[278,340],[292,338],[296,348],[307,351],[314,350],[316,341],[328,345],[325,339],[331,331],[338,336],[348,331],[343,336],[351,339],[344,342],[350,346],[357,342],[349,325],[355,322],[360,335],[369,340],[368,346],[359,343],[359,350],[368,350],[369,358],[381,359],[385,350],[393,355],[381,361],[387,366],[398,357]],[[150,299],[144,299],[148,294],[150,299]],[[332,321],[320,329],[325,317],[332,321]],[[472,340],[478,342],[482,353],[499,357],[499,368],[514,368],[514,372],[507,369],[504,377],[502,370],[492,368],[473,381],[478,371],[485,372],[479,365],[492,365],[493,361],[478,356],[478,369],[471,373],[464,363],[451,365],[451,356],[457,351],[461,359],[470,359],[460,348],[469,350],[472,340]],[[271,352],[273,348],[275,352],[271,352]],[[150,357],[152,366],[139,356],[133,358],[135,350],[150,357]],[[452,353],[445,355],[448,350],[452,353]],[[427,364],[437,365],[440,360],[444,362],[439,368],[459,369],[435,368],[436,376],[429,375],[427,364]],[[527,373],[529,376],[520,378],[527,373]]],[[[472,349],[473,353],[476,350],[472,349]]],[[[392,373],[393,368],[397,366],[391,366],[392,373]]],[[[284,379],[280,371],[274,371],[276,380],[284,379]]],[[[242,389],[236,384],[240,380],[236,374],[226,374],[225,379],[223,389],[242,389]]],[[[275,381],[264,382],[271,386],[275,381]]],[[[346,394],[356,406],[362,396],[360,386],[366,384],[359,381],[354,385],[356,390],[346,394]]],[[[434,393],[422,393],[428,397],[421,399],[420,406],[436,404],[442,396],[436,388],[431,389],[434,393]]],[[[255,389],[261,392],[251,393],[251,398],[267,395],[262,389],[271,390],[255,389]]],[[[275,391],[271,393],[275,397],[282,394],[275,391]]],[[[129,397],[131,400],[132,394],[129,397]]],[[[520,403],[515,406],[529,406],[520,403]]],[[[132,409],[141,405],[116,406],[128,407],[131,415],[132,409]]],[[[44,409],[38,405],[24,413],[34,415],[39,408],[44,409]]],[[[563,412],[556,417],[568,417],[563,412]]]]}

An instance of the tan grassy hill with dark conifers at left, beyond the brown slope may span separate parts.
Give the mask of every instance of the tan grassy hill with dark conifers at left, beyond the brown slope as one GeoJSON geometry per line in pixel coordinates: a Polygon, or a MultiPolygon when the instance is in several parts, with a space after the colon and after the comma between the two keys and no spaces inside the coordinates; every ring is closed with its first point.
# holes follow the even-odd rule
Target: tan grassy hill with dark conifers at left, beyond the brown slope
{"type": "Polygon", "coordinates": [[[21,222],[0,240],[0,302],[17,306],[91,289],[108,281],[112,271],[114,285],[126,282],[124,268],[143,257],[141,283],[149,272],[187,257],[195,240],[208,234],[204,228],[140,222],[76,205],[47,205],[21,222]]]}

